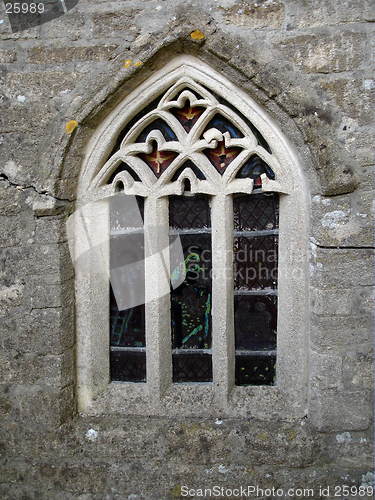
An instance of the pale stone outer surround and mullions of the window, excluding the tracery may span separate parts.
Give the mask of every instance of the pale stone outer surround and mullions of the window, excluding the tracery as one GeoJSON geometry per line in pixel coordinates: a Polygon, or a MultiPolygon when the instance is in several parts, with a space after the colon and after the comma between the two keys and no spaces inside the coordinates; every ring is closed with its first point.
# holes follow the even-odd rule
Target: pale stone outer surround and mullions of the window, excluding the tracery
{"type": "MultiPolygon", "coordinates": [[[[230,360],[234,362],[234,343],[230,342],[232,333],[228,320],[233,297],[225,277],[222,281],[216,280],[213,288],[216,297],[213,356],[217,360],[213,384],[172,384],[169,377],[171,357],[162,354],[170,351],[170,335],[166,333],[170,328],[168,295],[146,304],[149,325],[146,345],[147,352],[153,353],[147,369],[152,376],[148,375],[146,384],[110,383],[108,273],[98,268],[98,261],[92,256],[84,269],[76,272],[79,411],[160,416],[209,416],[220,412],[230,417],[301,417],[306,414],[308,397],[308,192],[293,147],[273,118],[253,99],[193,56],[174,59],[127,96],[98,127],[82,165],[77,208],[90,207],[88,220],[92,217],[95,232],[99,234],[99,247],[103,255],[108,256],[108,240],[100,238],[108,234],[106,197],[113,192],[113,186],[103,184],[104,177],[101,178],[105,159],[124,124],[155,95],[165,92],[181,79],[193,79],[205,85],[239,109],[260,130],[276,158],[272,165],[276,181],[270,181],[269,185],[264,183],[263,189],[280,193],[277,384],[235,387],[234,380],[227,376],[232,370],[230,360]],[[222,307],[223,304],[226,307],[222,307]]],[[[124,180],[126,193],[142,194],[135,192],[129,179],[124,180]]],[[[166,194],[148,190],[145,213],[149,227],[156,227],[160,220],[168,220],[166,194]]],[[[230,247],[233,237],[232,197],[220,187],[212,194],[212,224],[216,228],[212,234],[213,252],[218,268],[231,269],[232,262],[225,250],[230,247]]],[[[168,238],[168,225],[161,227],[164,232],[159,225],[159,231],[151,238],[155,250],[163,248],[163,241],[168,238]]],[[[79,247],[78,234],[75,242],[79,247]]],[[[157,274],[150,271],[146,286],[155,290],[162,283],[157,274]]]]}

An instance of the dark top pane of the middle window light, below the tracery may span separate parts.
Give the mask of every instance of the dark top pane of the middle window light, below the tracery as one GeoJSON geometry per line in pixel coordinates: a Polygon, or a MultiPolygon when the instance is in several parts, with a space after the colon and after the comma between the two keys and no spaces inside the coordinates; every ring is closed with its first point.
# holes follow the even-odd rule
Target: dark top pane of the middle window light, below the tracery
{"type": "Polygon", "coordinates": [[[203,196],[171,196],[169,225],[172,229],[203,229],[211,227],[208,200],[203,196]]]}

